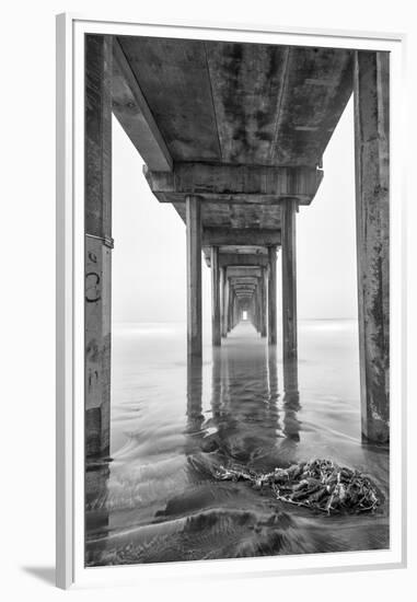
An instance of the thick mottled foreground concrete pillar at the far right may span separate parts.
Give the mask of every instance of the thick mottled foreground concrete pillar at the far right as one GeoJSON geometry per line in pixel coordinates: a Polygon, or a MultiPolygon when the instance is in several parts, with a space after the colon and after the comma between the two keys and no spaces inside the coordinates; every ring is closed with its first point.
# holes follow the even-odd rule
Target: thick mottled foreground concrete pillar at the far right
{"type": "Polygon", "coordinates": [[[355,53],[362,436],[390,439],[390,56],[355,53]]]}

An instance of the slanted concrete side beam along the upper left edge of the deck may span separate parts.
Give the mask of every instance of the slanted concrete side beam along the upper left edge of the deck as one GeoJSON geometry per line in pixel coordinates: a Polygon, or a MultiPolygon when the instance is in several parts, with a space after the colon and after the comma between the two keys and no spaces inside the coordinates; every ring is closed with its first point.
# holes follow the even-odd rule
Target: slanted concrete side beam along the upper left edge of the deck
{"type": "Polygon", "coordinates": [[[170,172],[172,157],[116,36],[112,85],[113,113],[140,157],[150,170],[170,172]]]}

